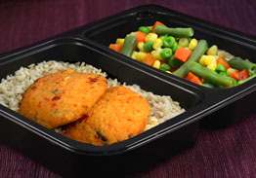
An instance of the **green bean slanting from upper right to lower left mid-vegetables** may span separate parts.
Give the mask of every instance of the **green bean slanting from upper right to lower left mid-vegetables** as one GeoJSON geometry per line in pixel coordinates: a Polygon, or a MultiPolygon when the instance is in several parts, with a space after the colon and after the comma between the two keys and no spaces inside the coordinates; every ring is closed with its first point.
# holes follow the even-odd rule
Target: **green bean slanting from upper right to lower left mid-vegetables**
{"type": "Polygon", "coordinates": [[[186,63],[184,63],[178,70],[176,70],[173,74],[178,76],[178,77],[185,77],[188,72],[188,64],[192,61],[196,62],[199,60],[201,55],[205,53],[208,49],[207,42],[205,40],[200,40],[195,47],[194,51],[192,52],[192,55],[188,59],[186,63]]]}

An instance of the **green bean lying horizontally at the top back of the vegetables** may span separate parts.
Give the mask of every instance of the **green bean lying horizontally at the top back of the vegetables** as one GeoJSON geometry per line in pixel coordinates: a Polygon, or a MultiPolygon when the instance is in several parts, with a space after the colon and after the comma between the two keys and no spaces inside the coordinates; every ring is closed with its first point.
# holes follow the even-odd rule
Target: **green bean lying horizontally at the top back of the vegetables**
{"type": "Polygon", "coordinates": [[[189,38],[193,36],[192,28],[169,28],[165,25],[157,25],[154,32],[158,35],[171,35],[179,38],[189,38]]]}

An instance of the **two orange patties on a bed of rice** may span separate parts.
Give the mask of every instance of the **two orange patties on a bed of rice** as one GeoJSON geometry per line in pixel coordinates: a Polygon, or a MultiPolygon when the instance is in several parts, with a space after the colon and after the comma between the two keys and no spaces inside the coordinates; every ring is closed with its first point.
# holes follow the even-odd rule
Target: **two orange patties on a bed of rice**
{"type": "Polygon", "coordinates": [[[85,63],[44,61],[0,83],[0,103],[66,137],[97,146],[131,138],[185,110],[85,63]]]}

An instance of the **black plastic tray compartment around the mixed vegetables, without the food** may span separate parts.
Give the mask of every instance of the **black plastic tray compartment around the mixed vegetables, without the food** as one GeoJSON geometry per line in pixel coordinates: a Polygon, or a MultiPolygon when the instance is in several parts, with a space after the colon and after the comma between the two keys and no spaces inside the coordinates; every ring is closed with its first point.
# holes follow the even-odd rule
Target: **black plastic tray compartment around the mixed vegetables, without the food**
{"type": "MultiPolygon", "coordinates": [[[[97,44],[103,50],[109,51],[107,48],[108,45],[113,43],[116,38],[123,38],[127,33],[138,30],[139,26],[151,25],[155,20],[162,21],[168,26],[190,26],[194,29],[194,36],[196,39],[205,39],[209,45],[218,45],[222,50],[237,56],[242,56],[243,58],[249,58],[252,62],[256,62],[255,38],[249,38],[239,32],[228,30],[212,23],[192,18],[156,5],[138,7],[112,17],[102,19],[99,22],[93,23],[93,25],[88,25],[84,30],[81,29],[80,34],[83,38],[89,39],[92,43],[97,44]]],[[[138,63],[139,65],[147,68],[147,70],[155,71],[155,69],[129,57],[120,56],[120,59],[138,63]]],[[[203,87],[195,86],[184,79],[171,75],[169,76],[169,79],[180,81],[182,85],[191,85],[195,88],[200,88],[206,96],[206,100],[214,100],[214,102],[209,101],[211,102],[210,105],[217,105],[218,103],[221,103],[218,106],[218,110],[207,118],[201,120],[202,127],[225,127],[234,124],[238,118],[246,118],[246,116],[251,113],[255,113],[251,103],[256,100],[256,97],[254,97],[256,79],[252,79],[246,84],[232,89],[205,89],[203,87]],[[249,92],[247,91],[248,88],[250,88],[249,92]],[[233,98],[233,102],[227,100],[227,98],[232,98],[236,93],[240,93],[240,95],[235,96],[236,98],[233,98]],[[227,101],[223,102],[225,100],[227,101]],[[228,102],[229,105],[227,106],[228,102]],[[246,112],[236,111],[236,108],[241,110],[241,108],[245,106],[247,108],[246,112]],[[229,115],[229,117],[227,115],[229,115]]]]}

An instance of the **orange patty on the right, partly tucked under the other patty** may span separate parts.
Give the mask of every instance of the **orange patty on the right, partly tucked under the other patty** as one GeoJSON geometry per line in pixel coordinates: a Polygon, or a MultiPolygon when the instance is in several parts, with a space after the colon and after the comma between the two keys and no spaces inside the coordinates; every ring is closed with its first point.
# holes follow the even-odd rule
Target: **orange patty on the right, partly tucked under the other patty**
{"type": "Polygon", "coordinates": [[[64,135],[93,145],[122,141],[141,133],[148,123],[148,101],[125,87],[107,89],[87,118],[68,125],[64,135]]]}

